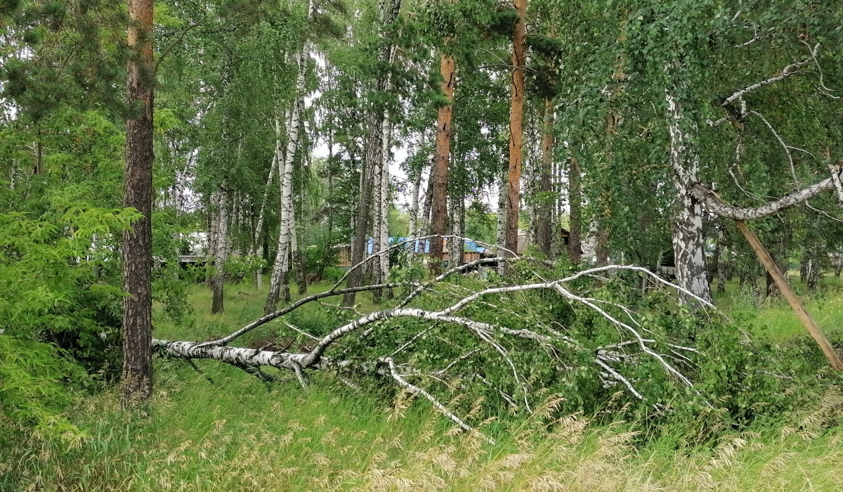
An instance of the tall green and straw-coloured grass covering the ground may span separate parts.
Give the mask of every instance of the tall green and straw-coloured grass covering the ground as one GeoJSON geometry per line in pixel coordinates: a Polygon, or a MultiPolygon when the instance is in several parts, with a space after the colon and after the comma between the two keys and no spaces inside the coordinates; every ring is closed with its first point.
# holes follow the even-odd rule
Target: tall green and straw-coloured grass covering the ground
{"type": "MultiPolygon", "coordinates": [[[[826,278],[824,294],[808,296],[807,305],[821,327],[843,335],[837,280],[826,278]]],[[[760,336],[803,336],[781,301],[740,295],[731,283],[718,297],[727,311],[758,311],[760,336]]],[[[369,299],[358,296],[362,310],[373,309],[369,299]]],[[[211,316],[207,288],[197,286],[192,326],[176,327],[158,311],[155,335],[229,333],[260,316],[263,300],[248,284],[227,285],[225,313],[211,316]]],[[[317,306],[307,309],[302,319],[319,316],[317,306]]],[[[260,335],[244,343],[260,343],[260,335]]],[[[228,365],[196,363],[201,374],[183,362],[158,361],[155,397],[140,419],[121,413],[115,392],[80,398],[71,416],[89,441],[61,452],[26,450],[17,463],[0,460],[0,489],[790,491],[839,490],[843,477],[843,427],[813,434],[782,425],[676,451],[683,449],[678,436],[632,446],[634,424],[593,427],[580,418],[552,434],[524,424],[488,446],[454,435],[425,403],[396,409],[319,379],[307,390],[293,378],[267,387],[228,365]]],[[[839,404],[835,398],[818,405],[839,404]]]]}

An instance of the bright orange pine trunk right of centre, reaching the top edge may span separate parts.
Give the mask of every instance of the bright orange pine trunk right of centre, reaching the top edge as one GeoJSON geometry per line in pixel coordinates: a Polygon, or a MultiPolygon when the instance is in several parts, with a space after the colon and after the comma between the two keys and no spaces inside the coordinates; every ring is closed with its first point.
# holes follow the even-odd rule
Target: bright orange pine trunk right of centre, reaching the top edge
{"type": "Polygon", "coordinates": [[[507,241],[506,247],[518,251],[518,212],[521,206],[521,162],[524,138],[524,49],[527,30],[527,0],[515,0],[518,20],[513,30],[513,84],[509,110],[509,174],[507,187],[507,241]]]}

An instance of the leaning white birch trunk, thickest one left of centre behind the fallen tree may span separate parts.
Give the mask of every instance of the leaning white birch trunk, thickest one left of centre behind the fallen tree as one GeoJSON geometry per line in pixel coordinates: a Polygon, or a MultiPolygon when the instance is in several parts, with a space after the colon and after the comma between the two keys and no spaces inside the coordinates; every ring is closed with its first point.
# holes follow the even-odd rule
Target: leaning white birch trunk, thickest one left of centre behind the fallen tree
{"type": "MultiPolygon", "coordinates": [[[[311,7],[312,3],[311,3],[311,7]]],[[[279,160],[278,177],[281,186],[281,220],[280,233],[278,235],[278,250],[275,257],[275,265],[272,268],[272,278],[269,284],[269,293],[266,295],[264,311],[268,314],[276,310],[278,296],[282,286],[285,289],[284,298],[289,299],[289,287],[287,285],[287,273],[290,271],[290,231],[295,227],[293,217],[293,163],[298,150],[298,132],[301,127],[301,103],[304,92],[304,76],[307,72],[309,49],[305,41],[302,50],[298,55],[298,77],[296,79],[296,100],[293,101],[293,108],[290,112],[290,127],[287,138],[287,153],[284,155],[283,167],[279,160]]]]}

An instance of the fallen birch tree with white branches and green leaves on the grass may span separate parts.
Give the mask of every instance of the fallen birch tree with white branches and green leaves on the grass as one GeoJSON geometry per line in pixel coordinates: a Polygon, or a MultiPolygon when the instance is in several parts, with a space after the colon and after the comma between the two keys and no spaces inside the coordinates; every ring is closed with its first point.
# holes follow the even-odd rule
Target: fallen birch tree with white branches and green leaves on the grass
{"type": "MultiPolygon", "coordinates": [[[[389,249],[379,254],[389,254],[389,249]]],[[[352,270],[376,260],[377,255],[368,257],[352,270]]],[[[356,386],[351,381],[353,378],[389,378],[405,391],[430,400],[464,430],[471,430],[471,426],[446,408],[432,391],[421,387],[421,382],[464,388],[470,381],[478,381],[513,411],[527,413],[532,412],[532,407],[556,378],[582,372],[592,375],[604,389],[617,387],[636,400],[647,400],[641,387],[648,384],[641,375],[652,375],[653,371],[639,369],[649,364],[661,368],[659,378],[697,392],[685,370],[697,364],[695,359],[701,356],[700,351],[686,340],[657,333],[647,316],[636,313],[611,295],[596,294],[594,280],[604,283],[606,275],[623,273],[647,276],[653,284],[698,302],[704,309],[695,311],[697,319],[701,312],[706,312],[705,308],[713,308],[710,302],[636,266],[607,265],[552,278],[556,273],[547,262],[507,256],[483,258],[451,268],[424,284],[394,282],[340,289],[343,278],[326,292],[298,300],[216,340],[153,339],[153,347],[183,360],[217,360],[262,379],[274,378],[263,371],[266,368],[289,371],[303,386],[314,371],[340,376],[349,386],[356,386]],[[448,282],[472,268],[498,262],[524,265],[525,272],[516,273],[515,278],[530,281],[506,283],[505,278],[486,282],[479,278],[466,281],[455,278],[448,282]],[[295,328],[298,336],[307,342],[298,349],[229,346],[246,333],[303,305],[349,292],[387,288],[405,288],[405,297],[395,307],[354,316],[326,333],[306,333],[295,328]],[[577,322],[573,314],[550,314],[550,311],[571,309],[578,310],[577,316],[582,316],[595,332],[599,330],[599,336],[577,333],[581,330],[569,325],[577,322]],[[612,341],[605,342],[609,339],[612,341]],[[598,340],[604,342],[596,343],[598,340]],[[408,381],[411,378],[421,382],[408,381]]],[[[340,306],[336,309],[341,310],[340,306]]],[[[286,324],[292,327],[289,322],[286,324]]]]}

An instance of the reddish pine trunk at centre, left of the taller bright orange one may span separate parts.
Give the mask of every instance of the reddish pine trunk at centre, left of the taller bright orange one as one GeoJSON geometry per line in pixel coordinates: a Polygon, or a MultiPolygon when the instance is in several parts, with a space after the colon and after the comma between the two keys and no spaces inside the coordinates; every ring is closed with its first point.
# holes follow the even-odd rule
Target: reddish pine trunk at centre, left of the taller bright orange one
{"type": "MultiPolygon", "coordinates": [[[[436,127],[436,153],[433,155],[433,196],[431,233],[445,235],[448,209],[448,161],[451,147],[451,116],[454,111],[454,58],[440,55],[439,73],[442,75],[442,91],[451,104],[439,108],[436,127]]],[[[440,269],[442,260],[443,238],[434,237],[430,241],[431,267],[435,272],[440,269]]]]}

